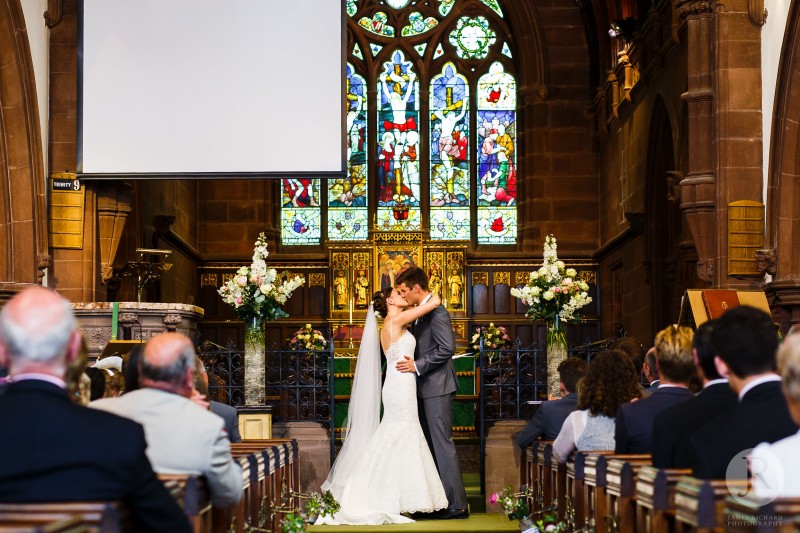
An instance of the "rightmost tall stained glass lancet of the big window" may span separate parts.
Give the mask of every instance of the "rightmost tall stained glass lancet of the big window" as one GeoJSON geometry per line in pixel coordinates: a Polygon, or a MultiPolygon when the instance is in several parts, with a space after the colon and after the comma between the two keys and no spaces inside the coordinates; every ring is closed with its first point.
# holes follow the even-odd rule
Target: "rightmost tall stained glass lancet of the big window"
{"type": "Polygon", "coordinates": [[[517,83],[501,63],[478,79],[478,242],[517,238],[517,83]]]}

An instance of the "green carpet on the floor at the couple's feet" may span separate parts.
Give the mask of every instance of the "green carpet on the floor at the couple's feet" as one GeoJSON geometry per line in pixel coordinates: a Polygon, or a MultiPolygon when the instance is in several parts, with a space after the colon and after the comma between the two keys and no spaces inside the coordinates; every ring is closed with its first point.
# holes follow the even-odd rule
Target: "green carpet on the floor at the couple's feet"
{"type": "Polygon", "coordinates": [[[484,499],[480,491],[478,474],[462,474],[464,488],[471,514],[466,520],[418,520],[413,524],[392,524],[388,526],[310,526],[308,533],[350,533],[367,531],[409,531],[414,533],[437,533],[441,531],[457,531],[459,533],[519,531],[519,522],[508,520],[501,513],[484,513],[484,499]]]}

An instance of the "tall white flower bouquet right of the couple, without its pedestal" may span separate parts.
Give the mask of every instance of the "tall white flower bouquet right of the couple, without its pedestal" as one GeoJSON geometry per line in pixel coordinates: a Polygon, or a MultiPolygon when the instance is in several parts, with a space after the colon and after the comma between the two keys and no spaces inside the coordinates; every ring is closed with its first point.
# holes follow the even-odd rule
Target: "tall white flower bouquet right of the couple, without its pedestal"
{"type": "Polygon", "coordinates": [[[591,303],[589,285],[577,279],[577,271],[559,261],[556,239],[548,235],[544,240],[544,261],[538,270],[531,272],[528,283],[521,289],[511,289],[511,295],[528,306],[526,316],[533,320],[553,321],[559,317],[564,322],[575,319],[575,312],[591,303]]]}

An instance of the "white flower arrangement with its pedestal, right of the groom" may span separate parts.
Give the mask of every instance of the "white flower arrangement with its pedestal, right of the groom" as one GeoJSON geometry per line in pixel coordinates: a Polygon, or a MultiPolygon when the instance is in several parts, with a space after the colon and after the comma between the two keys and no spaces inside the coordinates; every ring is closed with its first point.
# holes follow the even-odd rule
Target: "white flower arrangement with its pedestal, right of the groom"
{"type": "Polygon", "coordinates": [[[547,323],[547,390],[550,397],[558,397],[556,369],[567,357],[566,324],[576,320],[575,312],[592,301],[587,292],[589,285],[577,279],[577,275],[574,268],[567,268],[558,259],[556,238],[548,235],[544,240],[542,266],[531,272],[524,287],[511,289],[511,295],[528,306],[525,316],[547,323]]]}

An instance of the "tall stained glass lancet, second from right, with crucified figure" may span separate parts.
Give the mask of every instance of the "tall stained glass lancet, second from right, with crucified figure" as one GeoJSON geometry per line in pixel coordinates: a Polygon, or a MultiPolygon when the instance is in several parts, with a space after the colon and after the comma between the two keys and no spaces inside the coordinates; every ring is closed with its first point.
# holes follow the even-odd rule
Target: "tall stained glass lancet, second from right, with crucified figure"
{"type": "Polygon", "coordinates": [[[469,82],[445,64],[430,87],[431,239],[469,240],[469,82]]]}

